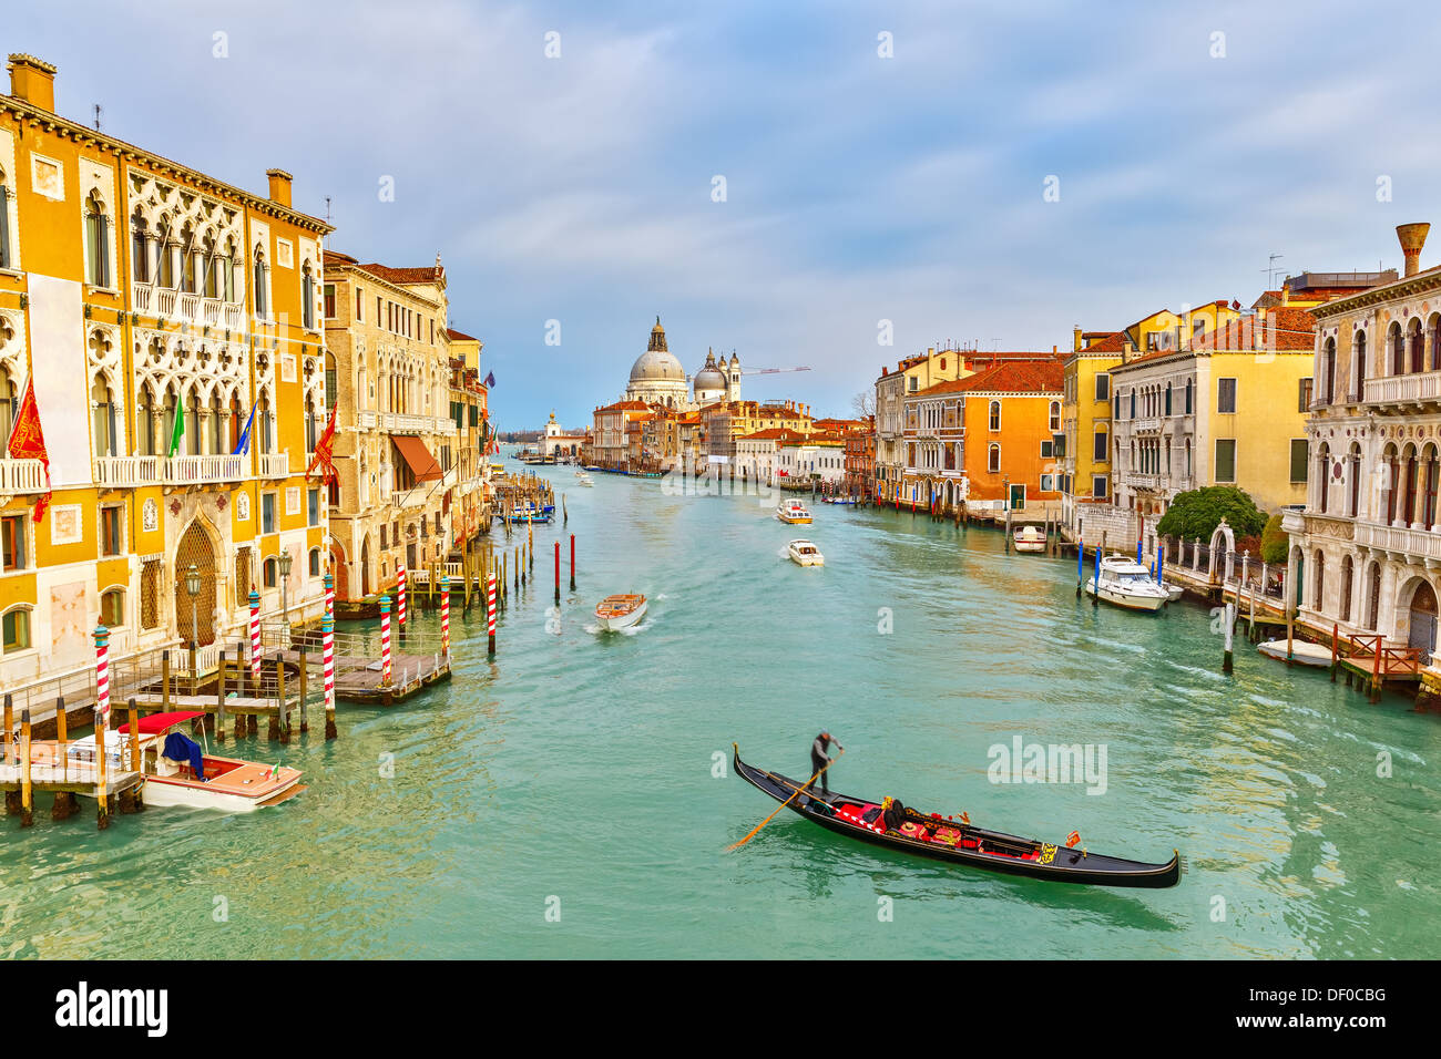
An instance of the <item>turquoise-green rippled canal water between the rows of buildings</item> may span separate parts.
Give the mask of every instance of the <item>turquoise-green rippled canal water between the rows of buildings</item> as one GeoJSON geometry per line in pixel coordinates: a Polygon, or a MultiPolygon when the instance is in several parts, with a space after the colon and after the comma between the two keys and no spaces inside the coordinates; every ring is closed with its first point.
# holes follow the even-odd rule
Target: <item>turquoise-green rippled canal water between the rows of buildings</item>
{"type": "Polygon", "coordinates": [[[536,529],[493,663],[478,608],[455,608],[448,684],[342,706],[330,743],[321,726],[239,743],[305,771],[271,811],[150,810],[105,833],[89,803],[61,824],[42,805],[23,833],[0,820],[4,954],[1441,955],[1437,716],[1241,640],[1222,676],[1203,608],[1092,608],[1074,560],[1007,556],[994,530],[826,504],[788,527],[774,497],[546,474],[569,526],[536,529]],[[572,532],[578,588],[556,614],[552,545],[572,532]],[[793,536],[826,568],[787,562],[793,536]],[[621,591],[650,614],[599,634],[594,604],[621,591]],[[722,852],[775,808],[731,774],[732,741],[806,775],[821,728],[846,746],[833,788],[1141,860],[1179,847],[1189,873],[1063,888],[788,811],[722,852]],[[1017,741],[1089,746],[1097,768],[993,782],[1017,741]]]}

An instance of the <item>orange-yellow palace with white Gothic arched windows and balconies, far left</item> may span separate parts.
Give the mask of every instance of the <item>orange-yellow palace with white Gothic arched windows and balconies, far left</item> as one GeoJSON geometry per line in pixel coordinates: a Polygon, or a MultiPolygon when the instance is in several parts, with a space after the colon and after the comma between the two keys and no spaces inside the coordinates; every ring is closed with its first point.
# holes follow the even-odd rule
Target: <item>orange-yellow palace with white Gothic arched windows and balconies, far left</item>
{"type": "Polygon", "coordinates": [[[0,458],[0,687],[111,651],[200,667],[321,599],[320,243],[291,177],[254,195],[55,112],[55,68],[0,95],[0,431],[33,385],[49,458],[0,458]],[[176,422],[180,422],[179,444],[176,422]],[[249,444],[242,435],[249,428],[249,444]],[[36,519],[36,501],[50,491],[36,519]],[[192,599],[184,573],[199,575],[192,599]],[[192,621],[192,612],[195,620],[192,621]]]}

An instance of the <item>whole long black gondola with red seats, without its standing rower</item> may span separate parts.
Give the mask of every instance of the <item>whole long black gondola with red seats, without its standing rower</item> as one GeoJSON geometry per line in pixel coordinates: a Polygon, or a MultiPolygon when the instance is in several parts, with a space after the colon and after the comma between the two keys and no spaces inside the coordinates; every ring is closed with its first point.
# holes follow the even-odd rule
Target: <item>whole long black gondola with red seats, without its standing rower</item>
{"type": "MultiPolygon", "coordinates": [[[[804,785],[778,772],[746,765],[741,748],[735,746],[735,771],[752,787],[780,803],[804,785]]],[[[941,816],[925,816],[904,810],[899,830],[888,830],[879,801],[847,794],[800,794],[787,807],[793,813],[820,824],[827,831],[869,841],[873,846],[914,856],[932,857],[953,864],[980,867],[1004,875],[1023,875],[1046,882],[1087,883],[1091,886],[1136,886],[1161,889],[1180,882],[1180,853],[1174,852],[1164,864],[1108,857],[1082,849],[1019,839],[1014,834],[987,831],[941,816]]]]}

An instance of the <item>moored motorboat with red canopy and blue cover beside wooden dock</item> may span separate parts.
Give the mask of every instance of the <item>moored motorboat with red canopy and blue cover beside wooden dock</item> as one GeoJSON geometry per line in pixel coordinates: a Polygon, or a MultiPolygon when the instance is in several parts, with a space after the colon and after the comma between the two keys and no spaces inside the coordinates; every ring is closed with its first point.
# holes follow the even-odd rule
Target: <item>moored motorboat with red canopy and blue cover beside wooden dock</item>
{"type": "MultiPolygon", "coordinates": [[[[264,765],[239,758],[206,754],[186,732],[202,710],[151,713],[137,725],[138,768],[131,759],[130,725],[105,733],[105,764],[112,775],[141,772],[146,805],[209,808],[222,813],[251,813],[294,798],[305,788],[301,772],[287,765],[264,765]]],[[[202,736],[203,738],[203,736],[202,736]]],[[[71,771],[78,777],[95,771],[95,735],[66,741],[61,762],[55,739],[32,742],[32,767],[71,771]]],[[[81,794],[86,794],[81,791],[81,794]]],[[[94,795],[88,795],[94,797],[94,795]]]]}

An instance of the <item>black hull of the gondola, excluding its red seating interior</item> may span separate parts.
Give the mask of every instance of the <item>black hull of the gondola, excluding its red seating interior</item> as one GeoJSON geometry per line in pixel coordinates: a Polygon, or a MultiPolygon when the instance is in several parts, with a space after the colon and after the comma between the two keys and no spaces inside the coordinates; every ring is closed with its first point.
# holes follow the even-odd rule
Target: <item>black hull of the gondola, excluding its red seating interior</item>
{"type": "MultiPolygon", "coordinates": [[[[735,771],[752,787],[780,803],[785,803],[791,798],[791,795],[795,794],[797,788],[803,784],[803,781],[746,765],[741,761],[739,748],[736,748],[735,752],[735,771]]],[[[1001,856],[999,853],[977,853],[935,841],[909,839],[904,834],[896,834],[895,831],[875,831],[867,827],[853,824],[834,816],[831,811],[827,811],[830,807],[842,804],[866,805],[878,803],[879,800],[857,798],[844,794],[816,794],[813,797],[807,792],[795,797],[787,808],[797,816],[810,820],[813,824],[824,827],[827,831],[843,834],[847,839],[859,839],[860,841],[872,846],[880,846],[898,853],[929,857],[931,860],[941,860],[965,867],[978,867],[986,872],[999,872],[1001,875],[1016,875],[1072,885],[1125,886],[1143,889],[1163,889],[1174,886],[1180,882],[1182,869],[1179,853],[1173,854],[1164,864],[1146,863],[1123,857],[1108,857],[1098,853],[1084,853],[1081,850],[1066,849],[1065,846],[1043,844],[1032,839],[1020,839],[1001,831],[989,831],[986,828],[971,826],[963,827],[954,821],[944,821],[948,827],[955,827],[964,831],[967,837],[980,839],[983,843],[990,843],[993,847],[1043,850],[1040,856],[1049,857],[1043,862],[1039,857],[1023,859],[1019,856],[1001,856]],[[817,804],[824,805],[826,808],[818,808],[817,804]]]]}

